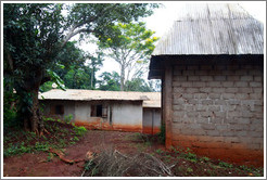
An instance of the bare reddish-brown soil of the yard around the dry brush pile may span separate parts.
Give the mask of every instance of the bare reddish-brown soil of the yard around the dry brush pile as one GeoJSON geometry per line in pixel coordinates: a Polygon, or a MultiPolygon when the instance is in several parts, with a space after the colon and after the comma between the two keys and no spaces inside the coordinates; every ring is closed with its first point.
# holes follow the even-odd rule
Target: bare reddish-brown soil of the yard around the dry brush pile
{"type": "MultiPolygon", "coordinates": [[[[65,138],[69,139],[69,137],[65,138]]],[[[89,130],[76,144],[69,144],[62,151],[67,159],[84,159],[88,152],[101,154],[104,151],[118,151],[128,157],[144,152],[171,166],[171,173],[177,177],[263,177],[264,175],[263,168],[226,164],[218,159],[199,157],[182,150],[167,151],[156,136],[142,136],[136,132],[89,130]]],[[[66,164],[49,152],[25,153],[4,157],[3,176],[80,177],[85,172],[85,165],[86,160],[66,164]]],[[[142,175],[135,173],[134,169],[125,176],[142,175]]]]}

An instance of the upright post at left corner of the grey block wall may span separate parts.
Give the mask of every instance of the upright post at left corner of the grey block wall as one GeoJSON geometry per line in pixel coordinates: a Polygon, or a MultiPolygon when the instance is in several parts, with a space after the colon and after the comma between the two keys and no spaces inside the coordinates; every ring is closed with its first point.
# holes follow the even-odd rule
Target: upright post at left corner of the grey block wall
{"type": "Polygon", "coordinates": [[[167,149],[171,147],[171,123],[173,123],[173,66],[166,63],[165,73],[164,73],[164,81],[163,81],[163,118],[165,121],[165,130],[166,130],[166,141],[165,145],[167,149]]]}

